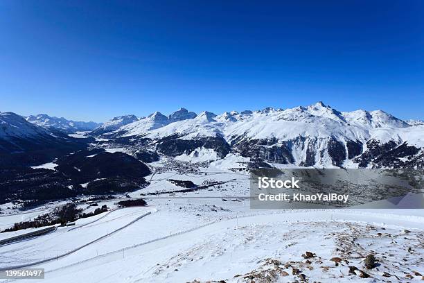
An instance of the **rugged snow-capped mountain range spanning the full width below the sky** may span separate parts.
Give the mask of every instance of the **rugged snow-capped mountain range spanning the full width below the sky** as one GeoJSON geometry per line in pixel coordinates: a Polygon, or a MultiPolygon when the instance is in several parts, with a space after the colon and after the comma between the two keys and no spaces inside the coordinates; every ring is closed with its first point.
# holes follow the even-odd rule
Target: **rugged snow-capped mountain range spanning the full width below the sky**
{"type": "Polygon", "coordinates": [[[125,115],[101,125],[46,114],[26,120],[10,112],[0,117],[3,152],[25,150],[22,142],[9,142],[17,137],[30,144],[68,138],[57,131],[91,130],[87,147],[125,148],[144,162],[160,156],[191,162],[236,156],[290,166],[423,168],[424,164],[422,121],[402,121],[381,110],[339,112],[322,102],[219,115],[206,111],[197,115],[181,108],[168,116],[125,115]]]}

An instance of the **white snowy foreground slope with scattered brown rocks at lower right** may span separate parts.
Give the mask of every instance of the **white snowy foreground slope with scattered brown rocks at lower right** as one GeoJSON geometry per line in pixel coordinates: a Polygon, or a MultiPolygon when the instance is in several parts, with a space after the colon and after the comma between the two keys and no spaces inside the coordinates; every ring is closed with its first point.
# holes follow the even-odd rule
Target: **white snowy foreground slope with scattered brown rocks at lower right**
{"type": "MultiPolygon", "coordinates": [[[[46,270],[44,282],[98,282],[100,278],[102,282],[250,282],[235,276],[276,267],[290,273],[281,275],[279,282],[299,279],[292,275],[293,268],[299,268],[310,282],[359,281],[359,276],[349,275],[348,266],[371,275],[362,282],[382,280],[383,272],[394,281],[405,281],[406,274],[424,272],[424,215],[414,216],[414,211],[252,212],[241,203],[229,202],[222,207],[224,210],[213,212],[216,207],[212,203],[213,200],[190,204],[184,200],[157,201],[157,212],[118,234],[38,266],[46,270]],[[306,251],[317,255],[310,264],[301,257],[306,251]],[[380,260],[377,269],[364,268],[361,261],[369,253],[380,260]],[[333,257],[349,263],[335,266],[330,261],[333,257]],[[281,265],[267,266],[269,259],[280,261],[281,265]],[[285,268],[287,263],[290,266],[285,268]]],[[[110,214],[109,219],[108,216],[91,225],[92,229],[90,225],[69,232],[69,228],[63,228],[39,237],[33,244],[28,241],[2,247],[1,261],[3,266],[6,262],[17,264],[51,256],[52,250],[74,248],[145,209],[121,209],[119,214],[110,214]],[[73,240],[64,241],[71,237],[73,240]]]]}

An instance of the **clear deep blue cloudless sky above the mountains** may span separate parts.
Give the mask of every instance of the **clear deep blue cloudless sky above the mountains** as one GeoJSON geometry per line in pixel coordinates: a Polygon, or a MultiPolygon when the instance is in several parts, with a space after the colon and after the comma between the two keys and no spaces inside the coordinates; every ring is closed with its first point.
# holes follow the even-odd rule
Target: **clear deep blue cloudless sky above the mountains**
{"type": "Polygon", "coordinates": [[[0,111],[424,119],[424,1],[0,1],[0,111]],[[209,2],[209,3],[206,3],[209,2]]]}

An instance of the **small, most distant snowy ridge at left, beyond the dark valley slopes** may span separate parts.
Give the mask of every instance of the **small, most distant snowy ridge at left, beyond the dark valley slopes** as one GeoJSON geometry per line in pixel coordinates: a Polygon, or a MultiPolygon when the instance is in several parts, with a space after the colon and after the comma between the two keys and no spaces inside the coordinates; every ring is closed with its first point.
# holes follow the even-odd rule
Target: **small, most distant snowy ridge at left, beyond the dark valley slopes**
{"type": "Polygon", "coordinates": [[[50,117],[47,114],[30,115],[26,121],[34,123],[44,128],[55,128],[64,132],[91,131],[100,126],[100,123],[93,121],[82,122],[64,119],[63,117],[50,117]]]}

